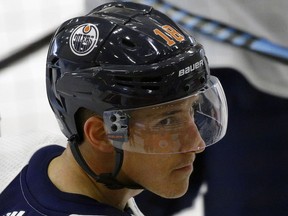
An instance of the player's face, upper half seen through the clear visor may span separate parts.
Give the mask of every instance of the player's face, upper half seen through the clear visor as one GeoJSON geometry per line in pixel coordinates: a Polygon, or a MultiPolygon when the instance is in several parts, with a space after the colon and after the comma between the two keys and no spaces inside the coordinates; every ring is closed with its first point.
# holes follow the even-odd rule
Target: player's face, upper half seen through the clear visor
{"type": "MultiPolygon", "coordinates": [[[[150,113],[143,110],[142,113],[133,116],[137,119],[137,124],[141,122],[142,125],[149,125],[149,128],[158,129],[141,130],[141,143],[147,152],[160,152],[160,154],[124,151],[121,171],[124,181],[138,183],[166,198],[180,197],[187,191],[195,154],[203,151],[205,147],[191,115],[191,104],[196,99],[191,98],[164,109],[159,108],[153,113],[151,110],[150,113]],[[178,125],[181,122],[184,124],[181,131],[178,126],[176,129],[170,126],[170,129],[161,130],[162,127],[169,127],[173,123],[178,125]],[[144,132],[146,134],[143,134],[144,132]],[[163,143],[164,147],[159,143],[163,143]],[[177,147],[173,146],[174,143],[177,147]],[[168,150],[171,150],[169,154],[167,146],[168,150]],[[163,154],[161,154],[162,147],[165,149],[163,154]]],[[[131,122],[129,127],[131,139],[139,135],[139,126],[133,126],[131,122]]]]}

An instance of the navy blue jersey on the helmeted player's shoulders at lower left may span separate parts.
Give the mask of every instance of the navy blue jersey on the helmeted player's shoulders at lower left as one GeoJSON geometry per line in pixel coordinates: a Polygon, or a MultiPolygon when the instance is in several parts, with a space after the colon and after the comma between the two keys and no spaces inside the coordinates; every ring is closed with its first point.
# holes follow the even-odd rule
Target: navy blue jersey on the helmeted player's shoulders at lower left
{"type": "Polygon", "coordinates": [[[58,190],[47,171],[50,161],[63,151],[63,147],[53,145],[32,156],[29,164],[1,193],[0,216],[133,215],[130,208],[122,212],[87,196],[58,190]]]}

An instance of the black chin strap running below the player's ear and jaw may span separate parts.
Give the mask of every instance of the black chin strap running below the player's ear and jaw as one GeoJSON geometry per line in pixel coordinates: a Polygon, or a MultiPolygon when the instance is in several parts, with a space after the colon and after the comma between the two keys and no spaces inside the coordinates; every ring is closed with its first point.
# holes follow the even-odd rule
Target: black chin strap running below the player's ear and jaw
{"type": "Polygon", "coordinates": [[[123,150],[122,149],[115,149],[115,167],[113,173],[101,173],[97,175],[95,172],[92,171],[92,169],[88,166],[85,159],[83,158],[80,150],[79,150],[79,142],[77,141],[78,137],[76,135],[73,135],[68,139],[71,152],[73,154],[73,157],[79,164],[79,166],[95,181],[104,184],[109,189],[123,189],[123,188],[129,188],[129,189],[144,189],[141,185],[125,185],[119,182],[116,179],[116,176],[118,175],[122,163],[123,163],[123,150]]]}

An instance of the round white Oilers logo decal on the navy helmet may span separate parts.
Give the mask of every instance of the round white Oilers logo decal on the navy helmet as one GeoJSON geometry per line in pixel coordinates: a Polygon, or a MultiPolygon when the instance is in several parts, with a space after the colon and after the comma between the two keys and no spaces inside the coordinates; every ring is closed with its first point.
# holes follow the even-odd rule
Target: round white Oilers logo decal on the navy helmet
{"type": "Polygon", "coordinates": [[[93,24],[82,24],[72,32],[69,45],[72,52],[78,56],[89,54],[98,41],[98,28],[93,24]]]}

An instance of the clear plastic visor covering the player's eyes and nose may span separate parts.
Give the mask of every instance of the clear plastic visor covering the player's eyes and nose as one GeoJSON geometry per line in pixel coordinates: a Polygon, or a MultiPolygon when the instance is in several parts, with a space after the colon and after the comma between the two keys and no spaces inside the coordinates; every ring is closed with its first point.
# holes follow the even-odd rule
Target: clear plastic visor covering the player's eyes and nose
{"type": "Polygon", "coordinates": [[[116,148],[146,154],[200,151],[226,133],[228,112],[219,80],[211,76],[196,94],[153,106],[104,112],[116,148]]]}

